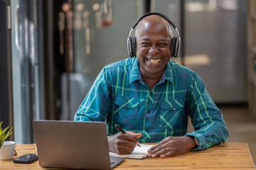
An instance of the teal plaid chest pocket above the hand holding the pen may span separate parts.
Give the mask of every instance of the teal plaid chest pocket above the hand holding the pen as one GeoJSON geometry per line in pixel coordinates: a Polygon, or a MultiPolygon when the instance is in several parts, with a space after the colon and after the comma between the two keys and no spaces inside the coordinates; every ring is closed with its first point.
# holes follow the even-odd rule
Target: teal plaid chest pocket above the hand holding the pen
{"type": "Polygon", "coordinates": [[[137,122],[138,98],[116,96],[114,98],[113,120],[124,127],[130,127],[137,122]]]}

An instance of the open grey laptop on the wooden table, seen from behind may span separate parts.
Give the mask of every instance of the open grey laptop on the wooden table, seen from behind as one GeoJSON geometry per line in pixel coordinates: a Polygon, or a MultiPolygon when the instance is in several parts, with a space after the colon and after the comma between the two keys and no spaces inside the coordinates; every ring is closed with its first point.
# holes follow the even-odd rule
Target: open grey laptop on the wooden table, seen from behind
{"type": "Polygon", "coordinates": [[[33,120],[39,165],[44,168],[112,169],[104,122],[33,120]]]}

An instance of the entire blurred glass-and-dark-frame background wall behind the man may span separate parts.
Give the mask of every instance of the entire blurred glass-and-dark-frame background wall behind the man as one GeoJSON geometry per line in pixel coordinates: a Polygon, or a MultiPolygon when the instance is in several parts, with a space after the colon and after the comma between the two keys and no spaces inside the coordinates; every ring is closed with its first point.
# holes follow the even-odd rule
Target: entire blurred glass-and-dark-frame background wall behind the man
{"type": "Polygon", "coordinates": [[[129,57],[129,30],[149,11],[164,13],[176,24],[181,52],[171,60],[196,71],[218,106],[255,104],[254,85],[249,86],[255,53],[250,62],[247,57],[248,1],[0,2],[1,20],[6,18],[1,35],[7,33],[8,46],[0,62],[9,65],[1,67],[0,118],[14,125],[16,143],[34,142],[34,119],[73,120],[102,67],[129,57]]]}

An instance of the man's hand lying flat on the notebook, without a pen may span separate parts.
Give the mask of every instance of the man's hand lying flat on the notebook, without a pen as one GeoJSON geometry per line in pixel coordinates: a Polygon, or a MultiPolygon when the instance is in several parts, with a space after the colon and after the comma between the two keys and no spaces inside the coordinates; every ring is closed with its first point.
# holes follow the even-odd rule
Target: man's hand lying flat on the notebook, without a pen
{"type": "Polygon", "coordinates": [[[194,147],[196,147],[196,142],[193,137],[166,137],[148,150],[148,157],[172,157],[178,154],[185,154],[194,147]]]}

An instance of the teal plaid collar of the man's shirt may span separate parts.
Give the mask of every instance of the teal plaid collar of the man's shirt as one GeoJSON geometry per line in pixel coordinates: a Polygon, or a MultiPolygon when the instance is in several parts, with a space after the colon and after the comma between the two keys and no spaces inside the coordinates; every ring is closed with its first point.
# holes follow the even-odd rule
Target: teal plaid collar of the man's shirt
{"type": "MultiPolygon", "coordinates": [[[[139,61],[137,60],[137,57],[134,57],[134,61],[132,64],[131,74],[129,76],[129,84],[132,83],[132,81],[139,80],[139,61]]],[[[164,71],[164,74],[161,76],[161,79],[159,80],[159,84],[163,83],[165,80],[170,81],[171,84],[174,81],[174,74],[173,69],[171,67],[171,62],[167,62],[166,68],[164,71]]]]}

